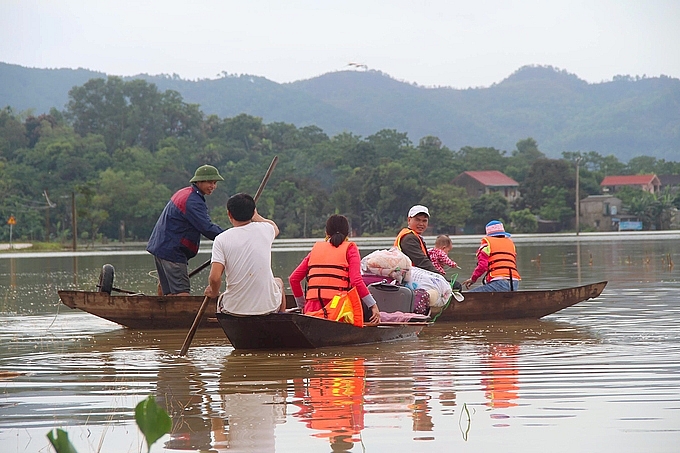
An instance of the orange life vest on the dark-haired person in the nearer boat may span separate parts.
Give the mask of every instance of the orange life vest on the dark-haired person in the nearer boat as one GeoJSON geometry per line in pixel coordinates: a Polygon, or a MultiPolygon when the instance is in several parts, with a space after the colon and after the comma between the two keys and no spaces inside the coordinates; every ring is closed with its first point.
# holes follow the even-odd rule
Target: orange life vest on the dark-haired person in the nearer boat
{"type": "Polygon", "coordinates": [[[317,242],[307,262],[307,299],[329,300],[350,290],[347,249],[354,242],[345,241],[338,247],[327,241],[317,242]]]}

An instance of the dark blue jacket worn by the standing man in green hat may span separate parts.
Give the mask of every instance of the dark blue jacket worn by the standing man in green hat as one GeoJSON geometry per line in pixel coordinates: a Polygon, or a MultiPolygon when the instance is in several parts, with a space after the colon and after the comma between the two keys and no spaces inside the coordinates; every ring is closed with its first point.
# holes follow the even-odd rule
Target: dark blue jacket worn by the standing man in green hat
{"type": "Polygon", "coordinates": [[[151,232],[146,250],[158,258],[187,264],[198,253],[201,234],[215,239],[222,231],[210,220],[205,196],[192,184],[170,198],[151,232]]]}

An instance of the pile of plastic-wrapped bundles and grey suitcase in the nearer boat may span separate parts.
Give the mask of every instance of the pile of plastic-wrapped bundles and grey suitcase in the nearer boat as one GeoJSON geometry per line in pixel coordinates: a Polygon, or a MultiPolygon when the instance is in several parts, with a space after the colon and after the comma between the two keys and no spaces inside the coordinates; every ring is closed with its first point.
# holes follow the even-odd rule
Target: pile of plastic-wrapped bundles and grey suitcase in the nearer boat
{"type": "Polygon", "coordinates": [[[397,247],[364,257],[361,274],[381,313],[436,314],[452,295],[443,275],[412,266],[397,247]]]}

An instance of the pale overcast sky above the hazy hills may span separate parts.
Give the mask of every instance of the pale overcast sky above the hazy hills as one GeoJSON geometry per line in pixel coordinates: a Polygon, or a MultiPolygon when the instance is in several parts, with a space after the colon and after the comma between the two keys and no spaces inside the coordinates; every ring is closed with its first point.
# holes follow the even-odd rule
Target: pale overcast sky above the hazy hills
{"type": "Polygon", "coordinates": [[[524,65],[680,78],[680,0],[0,0],[0,61],[276,82],[358,63],[455,88],[524,65]]]}

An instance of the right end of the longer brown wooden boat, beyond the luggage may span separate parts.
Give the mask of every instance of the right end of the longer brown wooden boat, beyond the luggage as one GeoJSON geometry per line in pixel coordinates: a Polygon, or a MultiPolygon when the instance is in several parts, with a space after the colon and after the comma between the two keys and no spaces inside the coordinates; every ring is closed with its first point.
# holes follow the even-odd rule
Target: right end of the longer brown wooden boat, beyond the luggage
{"type": "Polygon", "coordinates": [[[465,300],[451,301],[441,313],[442,321],[492,321],[538,319],[599,296],[607,282],[553,290],[512,291],[503,293],[465,292],[465,300]]]}

